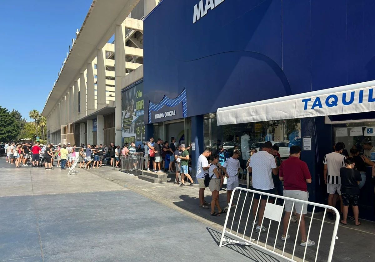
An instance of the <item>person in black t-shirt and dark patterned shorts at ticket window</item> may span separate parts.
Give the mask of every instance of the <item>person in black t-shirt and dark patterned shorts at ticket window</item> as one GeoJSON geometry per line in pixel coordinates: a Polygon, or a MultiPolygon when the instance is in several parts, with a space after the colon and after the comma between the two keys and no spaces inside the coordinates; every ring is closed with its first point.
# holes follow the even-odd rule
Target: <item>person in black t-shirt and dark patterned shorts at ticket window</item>
{"type": "Polygon", "coordinates": [[[340,221],[343,225],[347,224],[347,216],[349,205],[353,208],[354,219],[356,221],[356,226],[361,225],[361,222],[358,221],[358,201],[359,201],[359,183],[362,180],[361,173],[358,170],[354,169],[356,162],[354,158],[350,157],[345,160],[347,164],[346,167],[340,168],[340,177],[341,177],[341,196],[343,207],[343,220],[340,221]]]}

